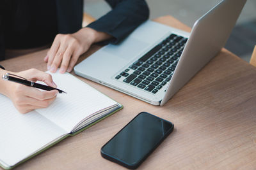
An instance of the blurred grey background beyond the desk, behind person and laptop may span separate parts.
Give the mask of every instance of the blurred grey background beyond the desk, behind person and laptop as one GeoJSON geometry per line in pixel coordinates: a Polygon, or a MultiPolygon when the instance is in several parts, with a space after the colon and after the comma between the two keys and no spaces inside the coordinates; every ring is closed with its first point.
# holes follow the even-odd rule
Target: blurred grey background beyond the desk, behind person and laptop
{"type": "MultiPolygon", "coordinates": [[[[220,0],[146,0],[150,8],[150,19],[172,15],[192,27],[194,22],[209,11],[220,0]]],[[[100,18],[111,8],[104,0],[84,0],[84,11],[100,18]]],[[[247,0],[225,48],[241,59],[250,61],[256,45],[256,1],[247,0]]]]}

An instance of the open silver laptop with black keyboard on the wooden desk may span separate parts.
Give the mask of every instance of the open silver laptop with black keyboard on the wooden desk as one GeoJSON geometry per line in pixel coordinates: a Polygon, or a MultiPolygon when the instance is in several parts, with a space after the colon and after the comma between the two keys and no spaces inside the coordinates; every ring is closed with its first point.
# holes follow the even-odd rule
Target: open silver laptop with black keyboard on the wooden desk
{"type": "Polygon", "coordinates": [[[223,0],[191,33],[147,20],[118,45],[74,67],[77,75],[163,106],[225,45],[246,0],[223,0]]]}

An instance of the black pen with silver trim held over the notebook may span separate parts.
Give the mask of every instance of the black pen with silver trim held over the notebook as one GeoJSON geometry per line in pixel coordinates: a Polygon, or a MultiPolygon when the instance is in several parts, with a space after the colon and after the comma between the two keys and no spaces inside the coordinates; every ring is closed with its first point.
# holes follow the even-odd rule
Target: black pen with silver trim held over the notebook
{"type": "Polygon", "coordinates": [[[66,93],[66,92],[64,92],[63,90],[60,90],[60,89],[56,89],[56,88],[53,88],[53,87],[50,87],[50,86],[47,86],[47,85],[42,85],[42,84],[39,84],[39,83],[35,83],[33,81],[28,81],[28,80],[26,80],[26,78],[20,79],[20,78],[22,78],[20,76],[17,76],[19,78],[16,78],[16,77],[13,77],[13,76],[17,76],[17,75],[6,73],[6,74],[3,74],[2,78],[3,78],[3,80],[13,81],[15,83],[20,83],[22,85],[26,85],[26,86],[29,86],[29,87],[35,87],[35,88],[42,89],[42,90],[47,90],[47,91],[58,90],[59,93],[66,93]],[[12,76],[10,76],[10,75],[12,75],[12,76]]]}

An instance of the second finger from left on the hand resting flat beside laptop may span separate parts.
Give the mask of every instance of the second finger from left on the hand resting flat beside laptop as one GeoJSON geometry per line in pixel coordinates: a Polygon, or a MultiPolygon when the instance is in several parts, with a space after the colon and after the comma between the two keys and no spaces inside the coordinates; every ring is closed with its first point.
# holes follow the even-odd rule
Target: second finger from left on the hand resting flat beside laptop
{"type": "Polygon", "coordinates": [[[64,42],[60,45],[58,52],[56,53],[56,55],[54,56],[54,60],[52,61],[50,69],[52,73],[55,73],[57,71],[57,68],[60,66],[61,60],[63,59],[63,54],[65,53],[66,49],[67,43],[64,42]]]}

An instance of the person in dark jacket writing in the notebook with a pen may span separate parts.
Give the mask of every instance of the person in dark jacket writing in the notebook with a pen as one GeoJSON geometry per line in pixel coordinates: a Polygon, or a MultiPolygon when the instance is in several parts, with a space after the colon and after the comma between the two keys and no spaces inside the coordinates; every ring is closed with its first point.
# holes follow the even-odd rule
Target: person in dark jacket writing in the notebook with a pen
{"type": "MultiPolygon", "coordinates": [[[[119,43],[148,18],[145,0],[106,1],[112,10],[83,28],[83,0],[1,1],[0,60],[5,59],[6,49],[36,48],[53,41],[44,58],[47,69],[55,73],[60,67],[60,73],[70,72],[93,43],[119,43]]],[[[1,66],[0,75],[5,73],[12,72],[1,66]]],[[[56,87],[50,74],[37,69],[13,74],[56,87]]],[[[58,91],[40,91],[1,79],[0,93],[9,97],[20,113],[27,113],[49,106],[58,91]]]]}

